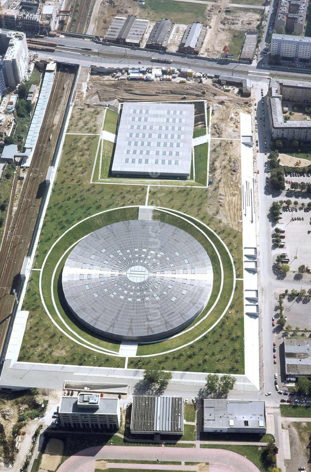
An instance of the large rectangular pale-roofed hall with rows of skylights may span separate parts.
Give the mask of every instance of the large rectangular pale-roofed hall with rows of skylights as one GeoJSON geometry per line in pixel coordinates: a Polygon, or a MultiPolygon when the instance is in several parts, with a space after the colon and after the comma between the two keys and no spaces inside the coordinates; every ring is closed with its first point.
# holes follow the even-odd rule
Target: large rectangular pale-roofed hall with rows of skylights
{"type": "Polygon", "coordinates": [[[123,103],[113,175],[188,178],[194,105],[123,103]]]}

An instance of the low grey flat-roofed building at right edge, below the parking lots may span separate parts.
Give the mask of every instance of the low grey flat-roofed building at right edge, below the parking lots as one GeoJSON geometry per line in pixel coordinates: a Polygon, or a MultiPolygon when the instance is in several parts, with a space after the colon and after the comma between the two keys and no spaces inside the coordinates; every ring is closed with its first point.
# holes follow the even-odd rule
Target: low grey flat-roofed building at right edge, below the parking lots
{"type": "Polygon", "coordinates": [[[309,339],[285,338],[286,380],[295,381],[298,377],[311,377],[311,344],[309,339]]]}

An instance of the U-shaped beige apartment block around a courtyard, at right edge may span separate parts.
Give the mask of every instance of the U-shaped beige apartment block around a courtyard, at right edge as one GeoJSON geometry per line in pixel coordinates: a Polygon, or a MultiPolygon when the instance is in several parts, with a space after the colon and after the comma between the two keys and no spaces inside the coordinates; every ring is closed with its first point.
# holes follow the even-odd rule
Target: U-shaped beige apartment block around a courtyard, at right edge
{"type": "Polygon", "coordinates": [[[311,140],[311,121],[284,121],[282,100],[311,101],[311,83],[271,79],[268,89],[268,115],[272,138],[311,140]]]}

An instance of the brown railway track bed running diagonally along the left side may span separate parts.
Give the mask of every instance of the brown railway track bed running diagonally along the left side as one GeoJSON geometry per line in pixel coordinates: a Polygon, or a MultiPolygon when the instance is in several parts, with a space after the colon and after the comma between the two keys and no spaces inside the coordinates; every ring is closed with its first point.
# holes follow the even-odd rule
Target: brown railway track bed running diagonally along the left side
{"type": "MultiPolygon", "coordinates": [[[[21,192],[12,194],[13,203],[8,209],[8,223],[3,235],[0,251],[0,352],[2,353],[10,326],[12,310],[16,293],[20,289],[20,270],[25,256],[29,252],[33,230],[36,224],[41,200],[45,191],[45,176],[57,143],[65,107],[74,81],[74,68],[59,68],[56,72],[54,84],[43,124],[38,138],[38,144],[33,154],[31,165],[27,171],[21,192]],[[65,90],[64,90],[65,86],[65,90]],[[49,138],[51,137],[51,140],[49,138]]],[[[16,190],[20,167],[17,167],[13,183],[16,190]]]]}

